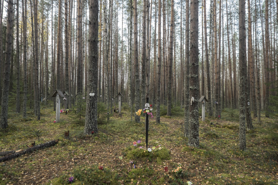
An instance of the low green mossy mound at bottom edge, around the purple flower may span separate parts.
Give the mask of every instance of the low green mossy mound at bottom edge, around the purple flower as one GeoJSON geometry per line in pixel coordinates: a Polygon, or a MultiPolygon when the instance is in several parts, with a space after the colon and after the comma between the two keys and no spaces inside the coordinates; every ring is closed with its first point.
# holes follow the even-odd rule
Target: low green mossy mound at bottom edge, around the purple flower
{"type": "MultiPolygon", "coordinates": [[[[119,184],[116,180],[116,174],[110,169],[103,167],[103,170],[98,169],[98,166],[86,169],[75,169],[72,173],[74,182],[72,185],[83,184],[119,184]]],[[[52,185],[66,185],[68,183],[69,175],[62,175],[52,180],[52,185]]]]}

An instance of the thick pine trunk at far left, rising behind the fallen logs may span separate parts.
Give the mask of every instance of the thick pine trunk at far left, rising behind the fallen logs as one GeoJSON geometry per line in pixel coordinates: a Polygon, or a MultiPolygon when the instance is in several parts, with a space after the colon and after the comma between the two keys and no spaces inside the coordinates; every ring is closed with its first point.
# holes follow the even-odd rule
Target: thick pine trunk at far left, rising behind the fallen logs
{"type": "Polygon", "coordinates": [[[3,90],[1,97],[1,116],[0,126],[3,129],[8,127],[8,100],[9,100],[9,86],[10,86],[10,65],[12,55],[12,28],[13,28],[13,1],[8,1],[7,10],[7,29],[6,29],[6,51],[3,75],[3,90]]]}

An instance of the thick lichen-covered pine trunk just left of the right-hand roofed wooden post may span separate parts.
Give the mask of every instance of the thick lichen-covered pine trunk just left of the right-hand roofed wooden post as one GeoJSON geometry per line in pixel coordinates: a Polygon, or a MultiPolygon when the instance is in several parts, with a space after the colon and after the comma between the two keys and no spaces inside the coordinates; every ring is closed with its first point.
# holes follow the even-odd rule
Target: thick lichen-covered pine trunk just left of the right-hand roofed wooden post
{"type": "Polygon", "coordinates": [[[188,145],[199,147],[199,58],[198,58],[198,0],[190,2],[190,74],[189,74],[189,136],[188,145]]]}

